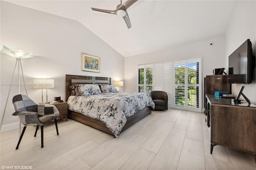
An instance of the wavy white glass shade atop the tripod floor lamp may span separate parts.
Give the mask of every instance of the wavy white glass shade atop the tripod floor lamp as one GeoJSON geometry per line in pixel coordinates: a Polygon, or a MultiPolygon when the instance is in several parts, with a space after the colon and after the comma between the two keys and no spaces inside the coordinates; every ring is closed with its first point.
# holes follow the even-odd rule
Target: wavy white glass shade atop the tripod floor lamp
{"type": "Polygon", "coordinates": [[[3,46],[1,52],[7,54],[8,56],[20,59],[34,57],[34,53],[26,52],[24,50],[12,50],[6,46],[3,46]]]}

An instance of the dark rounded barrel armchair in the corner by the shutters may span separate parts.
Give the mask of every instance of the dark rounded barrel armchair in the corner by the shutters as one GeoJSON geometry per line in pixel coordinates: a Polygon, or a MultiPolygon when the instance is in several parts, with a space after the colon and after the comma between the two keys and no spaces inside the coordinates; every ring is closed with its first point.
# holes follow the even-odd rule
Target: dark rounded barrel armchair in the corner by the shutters
{"type": "Polygon", "coordinates": [[[149,92],[153,102],[155,103],[154,110],[168,110],[168,95],[164,91],[149,92]]]}

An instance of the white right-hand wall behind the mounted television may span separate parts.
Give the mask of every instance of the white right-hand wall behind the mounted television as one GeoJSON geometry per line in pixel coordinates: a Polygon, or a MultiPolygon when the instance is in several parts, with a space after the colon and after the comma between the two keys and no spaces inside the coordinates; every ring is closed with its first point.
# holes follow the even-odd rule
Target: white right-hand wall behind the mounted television
{"type": "MultiPolygon", "coordinates": [[[[245,40],[252,42],[252,54],[256,56],[256,1],[236,1],[230,23],[226,31],[226,68],[228,56],[232,54],[245,40]]],[[[243,93],[251,103],[256,104],[256,68],[253,70],[251,84],[232,84],[232,94],[237,96],[242,86],[243,93]]],[[[242,96],[241,96],[242,97],[242,96]]]]}

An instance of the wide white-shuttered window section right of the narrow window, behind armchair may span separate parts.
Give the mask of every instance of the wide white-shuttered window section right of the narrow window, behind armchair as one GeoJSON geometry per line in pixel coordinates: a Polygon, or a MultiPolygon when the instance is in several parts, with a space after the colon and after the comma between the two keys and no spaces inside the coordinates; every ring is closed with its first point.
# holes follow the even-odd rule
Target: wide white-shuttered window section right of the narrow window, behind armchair
{"type": "Polygon", "coordinates": [[[201,58],[153,66],[153,90],[168,94],[169,108],[201,112],[201,58]]]}

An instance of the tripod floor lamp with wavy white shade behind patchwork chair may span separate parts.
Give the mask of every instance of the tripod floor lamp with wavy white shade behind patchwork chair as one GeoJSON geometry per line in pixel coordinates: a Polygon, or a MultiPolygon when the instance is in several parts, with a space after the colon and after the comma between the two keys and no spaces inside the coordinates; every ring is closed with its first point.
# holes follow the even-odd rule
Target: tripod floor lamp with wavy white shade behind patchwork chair
{"type": "MultiPolygon", "coordinates": [[[[13,82],[14,74],[15,74],[16,67],[17,67],[17,64],[18,64],[18,76],[19,76],[18,77],[19,78],[18,87],[19,87],[19,94],[20,94],[20,85],[21,85],[20,84],[20,70],[21,70],[22,78],[23,78],[23,82],[24,82],[24,87],[25,87],[25,90],[26,90],[26,94],[28,96],[28,92],[27,92],[27,88],[26,88],[26,83],[25,83],[25,78],[24,78],[24,74],[23,74],[23,70],[22,70],[22,65],[21,65],[21,59],[34,57],[34,54],[30,53],[30,52],[26,52],[24,50],[11,50],[10,48],[7,48],[6,46],[3,46],[1,52],[4,53],[4,54],[7,54],[8,56],[16,58],[16,64],[15,64],[15,67],[14,67],[14,72],[12,74],[12,82],[13,82]]],[[[11,87],[12,87],[12,82],[10,83],[10,88],[9,88],[9,91],[8,91],[8,97],[7,97],[7,100],[6,100],[5,107],[4,107],[4,114],[5,114],[5,111],[6,111],[6,106],[7,106],[8,98],[9,98],[9,95],[10,95],[10,90],[11,90],[11,87]]],[[[0,130],[2,128],[2,123],[3,123],[3,120],[4,120],[4,114],[3,114],[2,118],[1,118],[0,130]]]]}

